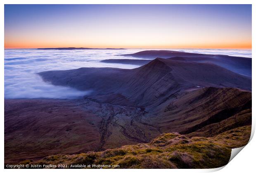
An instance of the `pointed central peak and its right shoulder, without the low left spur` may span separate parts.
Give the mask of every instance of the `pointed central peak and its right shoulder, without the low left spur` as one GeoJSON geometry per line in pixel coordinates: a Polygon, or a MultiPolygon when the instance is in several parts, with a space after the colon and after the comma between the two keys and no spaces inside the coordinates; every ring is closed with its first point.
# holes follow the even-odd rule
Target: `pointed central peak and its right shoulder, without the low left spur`
{"type": "Polygon", "coordinates": [[[178,62],[157,58],[145,66],[133,69],[125,90],[118,90],[140,106],[157,106],[187,89],[232,87],[251,90],[251,80],[208,63],[178,62]],[[129,92],[127,92],[129,91],[129,92]]]}

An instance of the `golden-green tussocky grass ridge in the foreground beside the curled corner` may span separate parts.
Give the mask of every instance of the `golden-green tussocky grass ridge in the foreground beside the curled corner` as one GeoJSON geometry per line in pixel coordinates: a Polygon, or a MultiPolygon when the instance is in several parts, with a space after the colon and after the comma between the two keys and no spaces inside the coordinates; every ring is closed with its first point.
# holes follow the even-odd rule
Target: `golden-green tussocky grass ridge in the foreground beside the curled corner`
{"type": "Polygon", "coordinates": [[[230,159],[231,149],[247,144],[251,126],[228,130],[214,137],[186,137],[164,133],[149,143],[126,145],[104,152],[47,156],[20,164],[119,165],[119,168],[217,168],[230,159]]]}

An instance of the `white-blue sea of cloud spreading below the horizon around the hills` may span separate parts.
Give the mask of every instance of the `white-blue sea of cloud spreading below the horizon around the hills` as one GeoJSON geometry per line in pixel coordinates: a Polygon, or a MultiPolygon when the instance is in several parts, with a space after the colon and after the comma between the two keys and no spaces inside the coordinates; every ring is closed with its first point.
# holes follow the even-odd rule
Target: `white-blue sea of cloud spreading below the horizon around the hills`
{"type": "MultiPolygon", "coordinates": [[[[146,50],[146,49],[143,49],[146,50]]],[[[165,49],[166,50],[166,49],[165,49]]],[[[172,49],[193,53],[222,54],[251,57],[251,50],[213,50],[213,49],[172,49]]],[[[123,59],[120,54],[129,54],[142,49],[127,50],[5,50],[5,99],[51,98],[73,99],[91,92],[52,85],[40,78],[41,71],[68,70],[81,67],[116,67],[133,69],[139,66],[100,62],[104,59],[123,59]]],[[[137,59],[125,57],[126,59],[137,59]]],[[[93,88],[92,88],[93,90],[93,88]]]]}

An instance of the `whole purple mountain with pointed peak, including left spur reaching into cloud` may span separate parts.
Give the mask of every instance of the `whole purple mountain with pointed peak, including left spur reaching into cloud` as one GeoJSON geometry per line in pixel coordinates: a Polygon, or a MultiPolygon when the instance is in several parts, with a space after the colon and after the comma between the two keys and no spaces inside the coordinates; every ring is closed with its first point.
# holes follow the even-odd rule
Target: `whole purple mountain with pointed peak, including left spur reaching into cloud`
{"type": "MultiPolygon", "coordinates": [[[[137,69],[81,68],[39,73],[45,81],[93,95],[119,94],[134,105],[156,106],[188,88],[233,87],[251,90],[251,79],[209,63],[156,58],[137,69]]],[[[118,104],[118,102],[115,102],[118,104]]]]}

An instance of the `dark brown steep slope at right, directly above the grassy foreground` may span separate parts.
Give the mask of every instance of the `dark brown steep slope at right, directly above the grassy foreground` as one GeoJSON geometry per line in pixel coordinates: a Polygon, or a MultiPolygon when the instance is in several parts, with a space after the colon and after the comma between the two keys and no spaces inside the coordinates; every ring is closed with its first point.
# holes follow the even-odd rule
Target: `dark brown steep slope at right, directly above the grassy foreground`
{"type": "Polygon", "coordinates": [[[158,110],[151,121],[157,122],[163,133],[194,132],[190,136],[209,137],[251,124],[251,92],[202,88],[178,95],[158,110]]]}

